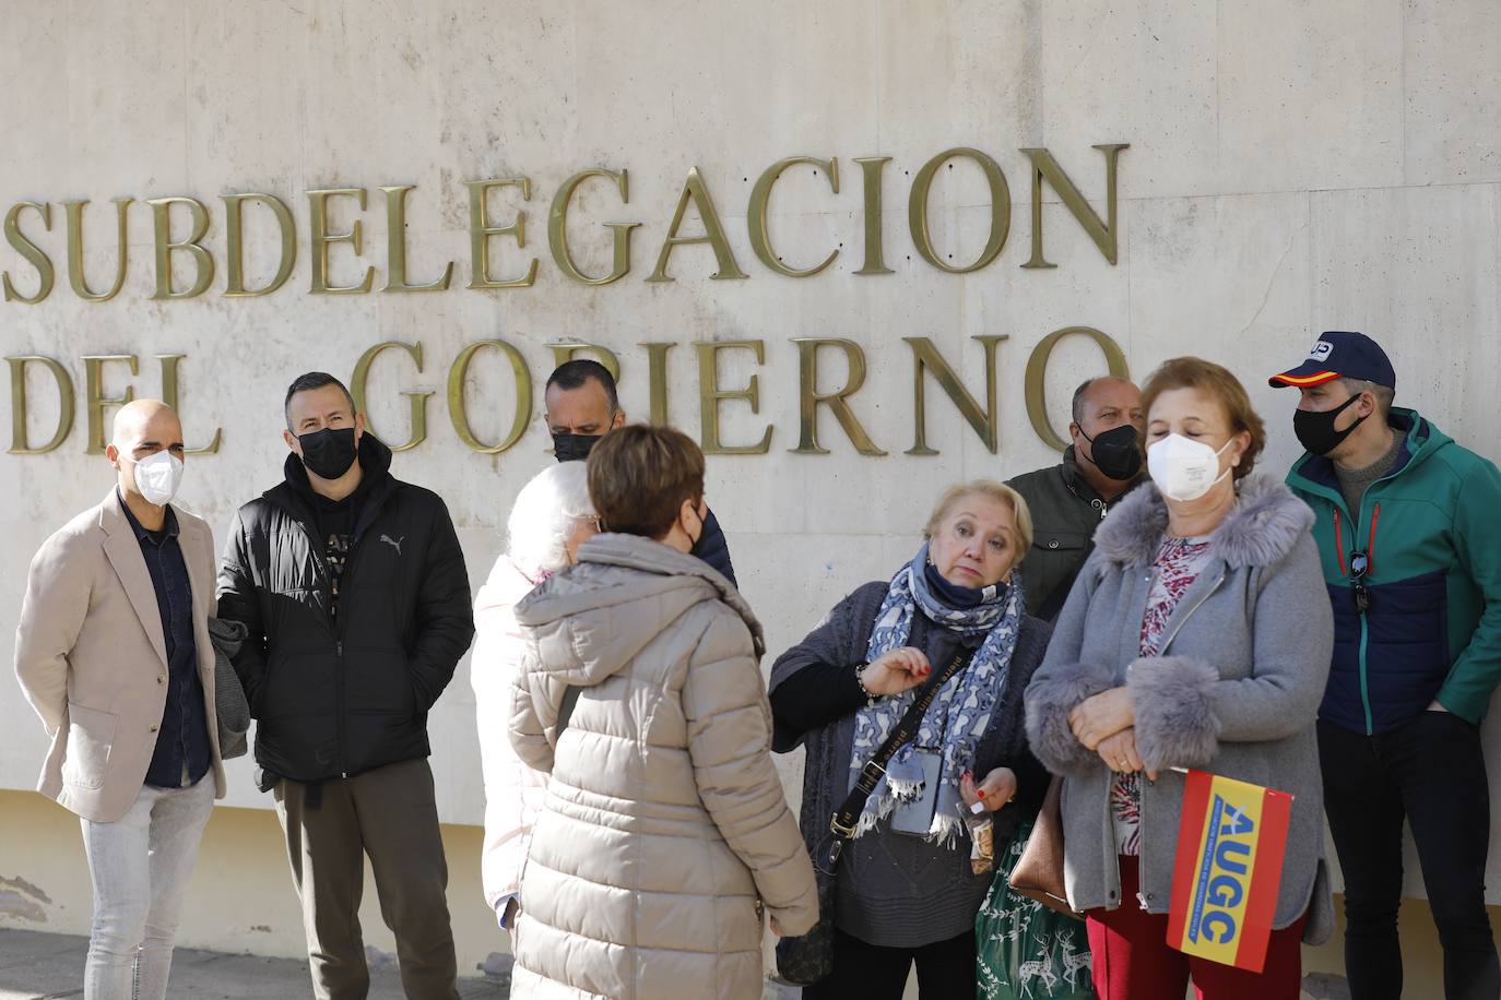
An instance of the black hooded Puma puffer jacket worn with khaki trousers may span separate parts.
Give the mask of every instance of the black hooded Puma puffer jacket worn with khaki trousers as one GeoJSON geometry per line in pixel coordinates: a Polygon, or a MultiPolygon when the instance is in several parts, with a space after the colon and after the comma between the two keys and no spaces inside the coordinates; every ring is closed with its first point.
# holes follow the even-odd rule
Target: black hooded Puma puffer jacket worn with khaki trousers
{"type": "Polygon", "coordinates": [[[360,438],[360,505],[338,618],[308,474],[240,508],[219,570],[219,618],[249,639],[234,658],[257,720],[255,760],[321,781],[426,757],[428,709],[474,637],[468,573],[443,501],[392,478],[390,448],[360,438]]]}

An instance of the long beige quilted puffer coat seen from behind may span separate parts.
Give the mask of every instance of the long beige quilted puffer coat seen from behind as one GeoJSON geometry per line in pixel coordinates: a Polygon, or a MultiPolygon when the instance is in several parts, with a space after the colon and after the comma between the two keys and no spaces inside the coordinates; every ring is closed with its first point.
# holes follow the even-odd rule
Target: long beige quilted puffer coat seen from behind
{"type": "Polygon", "coordinates": [[[772,765],[761,625],[719,573],[660,543],[596,535],[578,558],[516,606],[530,648],[510,741],[552,777],[512,997],[760,997],[757,900],[785,934],[818,910],[772,765]]]}

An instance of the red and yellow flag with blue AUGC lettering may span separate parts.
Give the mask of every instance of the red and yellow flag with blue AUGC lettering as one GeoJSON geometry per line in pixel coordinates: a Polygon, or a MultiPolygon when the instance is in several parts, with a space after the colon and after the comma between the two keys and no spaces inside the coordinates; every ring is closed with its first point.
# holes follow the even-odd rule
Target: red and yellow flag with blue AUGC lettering
{"type": "Polygon", "coordinates": [[[1261,972],[1277,909],[1292,796],[1189,771],[1168,945],[1261,972]]]}

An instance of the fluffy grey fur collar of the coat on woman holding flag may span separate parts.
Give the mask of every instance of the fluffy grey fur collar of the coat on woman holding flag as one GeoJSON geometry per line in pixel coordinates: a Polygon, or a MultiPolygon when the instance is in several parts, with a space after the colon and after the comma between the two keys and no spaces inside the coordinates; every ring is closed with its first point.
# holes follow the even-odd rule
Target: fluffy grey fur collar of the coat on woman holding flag
{"type": "MultiPolygon", "coordinates": [[[[1210,552],[1232,568],[1277,562],[1313,526],[1313,511],[1283,483],[1250,475],[1238,487],[1235,505],[1210,534],[1210,552]]],[[[1115,567],[1147,567],[1157,558],[1168,531],[1168,504],[1156,484],[1132,490],[1111,508],[1094,532],[1094,546],[1115,567]]]]}

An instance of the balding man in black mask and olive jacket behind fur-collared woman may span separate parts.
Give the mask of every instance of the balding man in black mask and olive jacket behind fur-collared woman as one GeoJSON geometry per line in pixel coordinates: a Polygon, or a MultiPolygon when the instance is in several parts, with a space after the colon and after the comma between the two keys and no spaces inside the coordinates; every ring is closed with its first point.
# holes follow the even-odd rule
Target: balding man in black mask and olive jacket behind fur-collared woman
{"type": "Polygon", "coordinates": [[[1063,462],[1009,483],[1033,516],[1033,547],[1021,565],[1027,612],[1049,622],[1063,610],[1111,504],[1145,478],[1147,418],[1135,384],[1111,375],[1087,379],[1073,390],[1072,417],[1073,444],[1063,462]]]}

